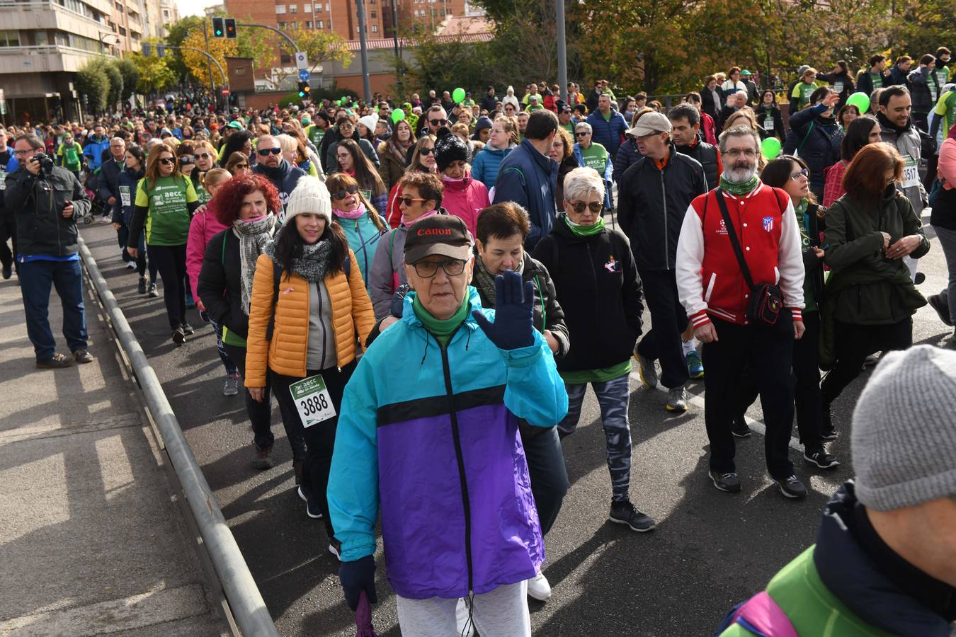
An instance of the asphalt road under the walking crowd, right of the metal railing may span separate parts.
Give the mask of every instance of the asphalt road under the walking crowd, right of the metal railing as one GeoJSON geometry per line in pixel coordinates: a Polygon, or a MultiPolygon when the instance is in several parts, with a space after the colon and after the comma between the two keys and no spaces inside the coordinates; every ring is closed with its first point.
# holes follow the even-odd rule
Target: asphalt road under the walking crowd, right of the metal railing
{"type": "MultiPolygon", "coordinates": [[[[163,382],[279,633],[355,635],[321,523],[307,518],[304,502],[295,496],[292,455],[274,401],[277,464],[259,472],[251,467],[251,430],[243,400],[221,393],[225,372],[212,329],[190,310],[196,335],[176,347],[162,298],[136,293],[135,272],[122,267],[112,228],[93,225],[82,233],[163,382]]],[[[931,229],[927,234],[932,236],[931,229]]],[[[937,292],[945,285],[938,245],[921,264],[926,273],[923,292],[937,292]]],[[[951,333],[932,309],[917,313],[914,342],[954,347],[951,333]]],[[[633,374],[631,497],[658,522],[657,530],[647,534],[607,521],[610,480],[604,435],[597,401],[588,393],[576,434],[564,440],[572,486],[546,538],[545,573],[554,595],[546,604],[531,602],[534,634],[712,634],[732,605],[762,589],[781,566],[815,541],[824,503],[843,479],[853,476],[846,434],[868,375],[864,372],[835,405],[841,436],[830,450],[840,467],[812,470],[800,457],[802,449],[792,451],[797,475],[811,489],[807,499],[792,501],[784,499],[766,474],[759,434],[737,443],[742,493],[716,491],[706,477],[703,381],[690,387],[690,411],[675,416],[663,409],[665,394],[641,387],[633,374]]],[[[759,403],[749,416],[759,429],[759,403]]],[[[376,559],[380,604],[374,611],[375,626],[382,637],[397,637],[395,597],[385,579],[381,551],[376,559]]]]}

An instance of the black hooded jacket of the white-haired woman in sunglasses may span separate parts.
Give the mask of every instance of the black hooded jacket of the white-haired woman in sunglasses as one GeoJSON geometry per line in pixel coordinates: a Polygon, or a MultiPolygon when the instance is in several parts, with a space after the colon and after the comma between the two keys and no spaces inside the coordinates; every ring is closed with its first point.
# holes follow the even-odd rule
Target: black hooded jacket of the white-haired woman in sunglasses
{"type": "Polygon", "coordinates": [[[643,303],[627,237],[608,228],[578,237],[562,215],[532,256],[551,274],[568,326],[571,349],[557,369],[598,370],[630,358],[641,335],[643,303]]]}

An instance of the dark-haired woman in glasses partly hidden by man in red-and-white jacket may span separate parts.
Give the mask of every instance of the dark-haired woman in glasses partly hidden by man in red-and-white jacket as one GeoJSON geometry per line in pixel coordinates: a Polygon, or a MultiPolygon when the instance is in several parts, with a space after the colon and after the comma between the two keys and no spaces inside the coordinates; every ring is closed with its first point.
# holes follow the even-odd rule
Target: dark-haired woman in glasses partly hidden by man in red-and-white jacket
{"type": "MultiPolygon", "coordinates": [[[[760,180],[790,195],[796,223],[800,229],[800,249],[803,252],[803,337],[793,341],[793,375],[796,387],[793,393],[796,405],[796,428],[803,445],[803,457],[821,469],[836,467],[839,462],[823,446],[822,416],[820,415],[820,305],[823,302],[823,248],[820,233],[824,228],[826,209],[817,205],[810,191],[810,170],[803,159],[782,155],[768,162],[760,180]]],[[[734,418],[734,431],[746,427],[743,414],[757,397],[756,385],[747,388],[740,415],[734,418]]],[[[750,432],[745,432],[750,434],[750,432]]],[[[829,437],[826,439],[833,439],[829,437]]]]}

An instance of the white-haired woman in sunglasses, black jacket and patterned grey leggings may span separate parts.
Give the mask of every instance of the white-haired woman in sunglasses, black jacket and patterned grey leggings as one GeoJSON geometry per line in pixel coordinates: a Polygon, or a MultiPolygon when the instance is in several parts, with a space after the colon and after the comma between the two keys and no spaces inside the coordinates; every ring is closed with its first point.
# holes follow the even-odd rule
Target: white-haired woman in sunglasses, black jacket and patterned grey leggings
{"type": "Polygon", "coordinates": [[[564,180],[564,213],[532,257],[552,276],[572,347],[557,361],[568,391],[568,414],[557,425],[562,438],[580,418],[588,384],[597,394],[607,436],[611,474],[610,520],[650,531],[654,520],[631,503],[631,355],[641,334],[641,279],[627,238],[604,226],[604,179],[576,168],[564,180]]]}

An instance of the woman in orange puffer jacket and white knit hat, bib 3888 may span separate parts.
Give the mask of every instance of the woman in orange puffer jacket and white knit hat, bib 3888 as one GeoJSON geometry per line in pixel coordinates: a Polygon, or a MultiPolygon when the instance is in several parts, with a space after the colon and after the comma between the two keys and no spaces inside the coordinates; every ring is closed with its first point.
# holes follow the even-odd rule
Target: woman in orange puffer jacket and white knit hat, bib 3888
{"type": "Polygon", "coordinates": [[[285,224],[256,260],[250,303],[246,387],[263,402],[268,376],[286,432],[305,436],[298,495],[337,556],[325,496],[337,414],[357,338],[364,342],[375,321],[355,254],[332,223],[329,191],[315,177],[298,180],[285,224]]]}

